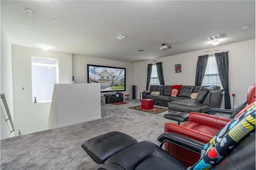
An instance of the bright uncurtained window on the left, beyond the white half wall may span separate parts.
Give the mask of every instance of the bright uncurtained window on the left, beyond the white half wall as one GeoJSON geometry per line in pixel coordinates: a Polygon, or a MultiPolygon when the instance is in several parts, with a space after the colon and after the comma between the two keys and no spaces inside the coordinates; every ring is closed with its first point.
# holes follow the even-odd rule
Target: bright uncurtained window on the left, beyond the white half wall
{"type": "Polygon", "coordinates": [[[32,99],[51,102],[54,84],[58,80],[58,60],[32,57],[32,99]]]}

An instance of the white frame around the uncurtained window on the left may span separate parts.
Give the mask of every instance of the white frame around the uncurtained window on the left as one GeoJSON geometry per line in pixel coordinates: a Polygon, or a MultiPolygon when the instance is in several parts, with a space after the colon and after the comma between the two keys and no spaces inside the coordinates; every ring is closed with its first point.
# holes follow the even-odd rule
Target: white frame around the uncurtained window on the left
{"type": "MultiPolygon", "coordinates": [[[[54,60],[56,61],[56,84],[59,84],[59,65],[58,59],[56,58],[44,58],[44,57],[35,57],[31,56],[31,79],[32,79],[32,102],[34,103],[34,94],[33,94],[33,59],[41,59],[41,60],[54,60]]],[[[52,89],[53,91],[53,89],[52,89]]],[[[44,102],[52,102],[52,100],[36,100],[37,103],[44,103],[44,102]]]]}

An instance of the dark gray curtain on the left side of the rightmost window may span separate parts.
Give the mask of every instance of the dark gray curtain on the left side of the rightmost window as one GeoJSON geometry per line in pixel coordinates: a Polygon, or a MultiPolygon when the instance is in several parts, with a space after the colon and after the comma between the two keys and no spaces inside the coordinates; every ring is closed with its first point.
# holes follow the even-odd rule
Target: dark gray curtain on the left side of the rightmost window
{"type": "Polygon", "coordinates": [[[207,66],[209,55],[204,56],[198,56],[197,65],[196,65],[196,81],[195,86],[201,86],[203,79],[204,79],[204,73],[207,66]]]}

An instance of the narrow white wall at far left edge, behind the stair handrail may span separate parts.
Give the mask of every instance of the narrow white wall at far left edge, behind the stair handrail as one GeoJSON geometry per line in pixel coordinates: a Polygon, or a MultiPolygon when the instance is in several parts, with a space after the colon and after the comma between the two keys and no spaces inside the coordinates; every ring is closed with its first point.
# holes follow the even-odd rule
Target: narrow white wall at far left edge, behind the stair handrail
{"type": "MultiPolygon", "coordinates": [[[[12,119],[14,120],[13,112],[13,92],[12,92],[12,50],[11,44],[1,28],[1,93],[6,96],[6,101],[10,110],[12,119]]],[[[2,101],[1,101],[2,102],[2,101]]],[[[10,134],[10,128],[5,122],[4,113],[1,107],[1,139],[14,136],[14,132],[10,134]]]]}

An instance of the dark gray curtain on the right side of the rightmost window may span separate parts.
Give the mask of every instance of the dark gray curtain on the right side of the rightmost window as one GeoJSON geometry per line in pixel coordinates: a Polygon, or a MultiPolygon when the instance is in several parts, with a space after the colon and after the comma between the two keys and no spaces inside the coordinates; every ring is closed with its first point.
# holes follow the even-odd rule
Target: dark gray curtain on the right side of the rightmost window
{"type": "Polygon", "coordinates": [[[229,83],[228,83],[228,52],[215,53],[220,82],[224,89],[225,109],[231,109],[229,83]]]}

